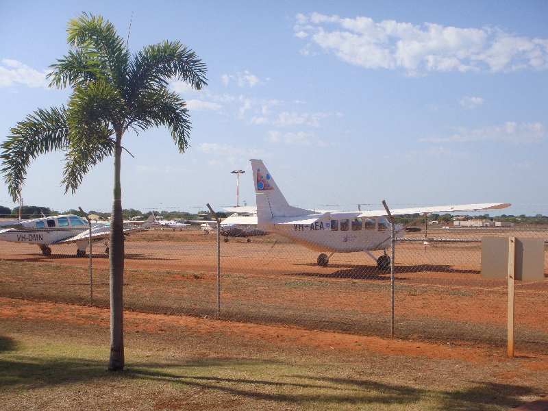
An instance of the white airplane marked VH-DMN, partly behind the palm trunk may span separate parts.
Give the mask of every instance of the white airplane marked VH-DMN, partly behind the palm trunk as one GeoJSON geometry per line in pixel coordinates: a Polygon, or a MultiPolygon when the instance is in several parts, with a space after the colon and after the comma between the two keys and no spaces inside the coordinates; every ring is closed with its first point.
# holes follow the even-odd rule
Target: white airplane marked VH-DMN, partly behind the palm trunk
{"type": "MultiPolygon", "coordinates": [[[[124,232],[132,229],[135,228],[124,229],[124,232]]],[[[109,236],[110,223],[92,223],[93,242],[108,241],[109,236]]],[[[72,214],[18,221],[9,228],[0,230],[0,240],[36,244],[44,256],[51,255],[50,245],[75,243],[76,256],[84,257],[89,244],[89,225],[82,217],[72,214]]],[[[108,242],[106,245],[105,253],[108,254],[108,242]]]]}

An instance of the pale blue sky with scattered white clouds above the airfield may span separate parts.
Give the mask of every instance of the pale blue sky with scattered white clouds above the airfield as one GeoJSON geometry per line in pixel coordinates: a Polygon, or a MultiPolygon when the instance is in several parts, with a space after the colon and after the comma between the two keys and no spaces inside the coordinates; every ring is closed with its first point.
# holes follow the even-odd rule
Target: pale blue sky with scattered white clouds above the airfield
{"type": "MultiPolygon", "coordinates": [[[[208,67],[203,90],[170,82],[192,121],[185,153],[165,128],[123,136],[123,208],[236,206],[238,169],[240,206],[253,206],[260,158],[292,206],[500,201],[512,207],[492,216],[548,215],[545,1],[0,0],[1,142],[66,104],[71,90],[45,76],[81,12],[132,53],[179,40],[208,67]]],[[[114,160],[65,194],[63,158],[32,162],[24,203],[108,212],[114,160]]],[[[16,206],[3,182],[0,206],[16,206]]]]}

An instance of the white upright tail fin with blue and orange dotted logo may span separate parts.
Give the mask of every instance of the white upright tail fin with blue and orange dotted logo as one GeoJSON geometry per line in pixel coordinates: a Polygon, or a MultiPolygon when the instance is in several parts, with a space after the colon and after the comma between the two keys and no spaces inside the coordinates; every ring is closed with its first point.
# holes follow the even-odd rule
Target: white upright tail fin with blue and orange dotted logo
{"type": "Polygon", "coordinates": [[[279,190],[262,160],[251,160],[253,181],[257,198],[258,225],[268,223],[273,217],[294,217],[311,214],[311,210],[291,207],[279,190]]]}

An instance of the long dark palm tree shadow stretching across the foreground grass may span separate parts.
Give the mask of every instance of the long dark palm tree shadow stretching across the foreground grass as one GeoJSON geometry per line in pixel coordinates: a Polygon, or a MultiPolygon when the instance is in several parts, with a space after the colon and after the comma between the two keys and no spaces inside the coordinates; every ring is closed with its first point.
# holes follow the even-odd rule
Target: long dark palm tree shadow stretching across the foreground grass
{"type": "MultiPolygon", "coordinates": [[[[12,347],[10,338],[1,341],[12,347]]],[[[2,351],[0,351],[1,353],[2,351]]],[[[151,397],[158,395],[154,383],[160,386],[170,384],[179,388],[200,388],[215,393],[227,393],[258,401],[278,403],[318,404],[321,406],[374,404],[395,404],[405,407],[425,401],[439,410],[492,410],[497,407],[512,408],[519,405],[520,397],[536,393],[535,388],[483,382],[469,382],[469,388],[454,391],[427,390],[400,384],[387,384],[369,379],[315,377],[312,375],[291,375],[288,366],[276,360],[211,359],[183,363],[136,363],[126,371],[110,373],[106,364],[98,360],[79,358],[29,358],[18,353],[0,358],[0,381],[4,389],[25,390],[76,383],[80,388],[97,388],[101,381],[147,382],[151,397]],[[249,375],[250,369],[264,375],[269,367],[274,369],[273,377],[217,377],[219,372],[230,371],[230,375],[249,375]],[[216,368],[219,367],[219,371],[216,368]],[[241,370],[238,370],[241,369],[241,370]],[[82,386],[82,384],[84,384],[82,386]]],[[[141,390],[142,388],[138,388],[141,390]]],[[[142,392],[147,395],[147,391],[142,392]]],[[[207,395],[204,393],[203,395],[207,395]]],[[[161,398],[158,398],[160,401],[161,398]]]]}

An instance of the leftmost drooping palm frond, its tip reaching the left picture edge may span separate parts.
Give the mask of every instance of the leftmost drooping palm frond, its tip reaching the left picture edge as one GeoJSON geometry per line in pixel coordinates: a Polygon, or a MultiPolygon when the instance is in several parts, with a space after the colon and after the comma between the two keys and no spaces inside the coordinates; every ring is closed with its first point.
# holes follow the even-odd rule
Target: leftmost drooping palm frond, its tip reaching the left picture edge
{"type": "Polygon", "coordinates": [[[40,154],[58,151],[69,145],[66,110],[64,107],[36,110],[17,123],[11,132],[1,146],[1,173],[13,201],[17,201],[30,162],[40,154]]]}

